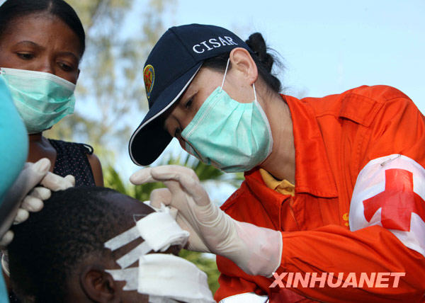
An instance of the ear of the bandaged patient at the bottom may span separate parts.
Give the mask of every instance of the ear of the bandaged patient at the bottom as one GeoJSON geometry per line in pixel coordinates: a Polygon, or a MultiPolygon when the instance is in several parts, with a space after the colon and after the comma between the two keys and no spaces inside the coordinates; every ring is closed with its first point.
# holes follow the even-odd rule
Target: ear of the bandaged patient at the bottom
{"type": "Polygon", "coordinates": [[[101,268],[89,266],[81,273],[81,288],[94,302],[109,303],[118,301],[118,285],[112,276],[101,268]]]}

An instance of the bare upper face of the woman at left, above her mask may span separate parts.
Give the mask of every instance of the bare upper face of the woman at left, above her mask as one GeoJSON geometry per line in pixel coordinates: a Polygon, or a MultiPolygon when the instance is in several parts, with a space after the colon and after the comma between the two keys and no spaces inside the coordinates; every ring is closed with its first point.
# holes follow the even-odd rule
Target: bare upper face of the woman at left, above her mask
{"type": "Polygon", "coordinates": [[[81,59],[79,37],[50,13],[18,16],[0,36],[0,67],[49,72],[76,83],[81,59]]]}

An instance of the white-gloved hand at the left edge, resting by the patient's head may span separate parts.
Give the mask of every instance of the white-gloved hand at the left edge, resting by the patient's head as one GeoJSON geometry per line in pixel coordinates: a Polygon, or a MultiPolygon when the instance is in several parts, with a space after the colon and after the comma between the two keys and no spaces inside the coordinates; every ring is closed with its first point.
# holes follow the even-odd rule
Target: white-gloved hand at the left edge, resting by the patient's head
{"type": "Polygon", "coordinates": [[[1,212],[8,214],[0,222],[0,246],[7,246],[13,239],[11,224],[18,224],[29,217],[29,212],[38,212],[43,200],[50,198],[50,190],[64,190],[74,186],[73,176],[62,178],[50,173],[50,160],[43,158],[35,164],[27,162],[9,188],[1,205],[1,212]],[[40,184],[41,186],[35,187],[40,184]]]}

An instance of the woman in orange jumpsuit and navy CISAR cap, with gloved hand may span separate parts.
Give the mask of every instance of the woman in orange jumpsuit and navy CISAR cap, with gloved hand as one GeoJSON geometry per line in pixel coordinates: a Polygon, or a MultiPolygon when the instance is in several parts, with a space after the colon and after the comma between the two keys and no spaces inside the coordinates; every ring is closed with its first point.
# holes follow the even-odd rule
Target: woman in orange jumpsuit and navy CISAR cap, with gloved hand
{"type": "Polygon", "coordinates": [[[151,164],[176,137],[245,181],[220,210],[187,168],[130,180],[163,181],[152,203],[179,210],[188,249],[217,254],[217,301],[423,301],[424,116],[389,86],[285,96],[272,64],[258,33],[167,30],[145,64],[149,112],[132,160],[151,164]]]}

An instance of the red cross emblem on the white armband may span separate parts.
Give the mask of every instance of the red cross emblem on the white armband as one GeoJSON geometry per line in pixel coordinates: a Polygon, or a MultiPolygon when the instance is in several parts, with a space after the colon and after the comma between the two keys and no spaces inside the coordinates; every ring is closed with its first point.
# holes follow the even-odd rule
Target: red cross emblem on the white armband
{"type": "Polygon", "coordinates": [[[410,231],[412,212],[425,221],[425,202],[413,191],[413,173],[392,168],[385,171],[385,190],[363,201],[365,218],[370,222],[381,209],[382,227],[410,231]]]}

